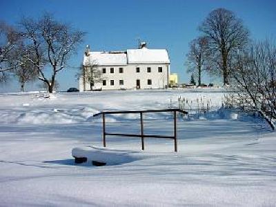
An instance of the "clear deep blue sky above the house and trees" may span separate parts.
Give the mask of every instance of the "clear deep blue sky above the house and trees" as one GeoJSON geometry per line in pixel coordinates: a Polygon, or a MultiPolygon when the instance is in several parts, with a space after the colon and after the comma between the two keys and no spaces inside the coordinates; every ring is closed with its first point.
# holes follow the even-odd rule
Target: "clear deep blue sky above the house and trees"
{"type": "MultiPolygon", "coordinates": [[[[184,62],[188,43],[199,35],[197,28],[208,13],[216,8],[235,12],[250,30],[252,39],[275,38],[276,1],[215,1],[215,0],[1,0],[0,19],[16,24],[23,15],[39,17],[51,12],[60,21],[72,23],[86,31],[86,37],[70,66],[79,66],[87,44],[92,50],[126,50],[137,48],[138,39],[148,43],[148,48],[166,48],[171,61],[171,72],[177,72],[181,82],[188,82],[184,62]]],[[[77,87],[76,69],[66,68],[58,75],[61,90],[77,87]]],[[[204,76],[204,82],[215,81],[204,76]]],[[[37,88],[28,84],[28,90],[37,88]]],[[[0,86],[0,91],[19,91],[11,81],[0,86]]]]}

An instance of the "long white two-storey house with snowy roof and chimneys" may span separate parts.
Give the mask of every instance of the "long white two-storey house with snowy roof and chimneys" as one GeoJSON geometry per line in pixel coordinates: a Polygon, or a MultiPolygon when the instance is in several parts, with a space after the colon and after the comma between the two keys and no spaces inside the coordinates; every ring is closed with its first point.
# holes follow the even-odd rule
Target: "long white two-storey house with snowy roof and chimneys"
{"type": "Polygon", "coordinates": [[[126,90],[134,88],[165,88],[169,84],[170,59],[167,50],[139,49],[92,52],[89,46],[83,57],[86,72],[97,71],[101,79],[90,83],[87,76],[79,80],[79,90],[126,90]],[[93,86],[94,85],[94,86],[93,86]]]}

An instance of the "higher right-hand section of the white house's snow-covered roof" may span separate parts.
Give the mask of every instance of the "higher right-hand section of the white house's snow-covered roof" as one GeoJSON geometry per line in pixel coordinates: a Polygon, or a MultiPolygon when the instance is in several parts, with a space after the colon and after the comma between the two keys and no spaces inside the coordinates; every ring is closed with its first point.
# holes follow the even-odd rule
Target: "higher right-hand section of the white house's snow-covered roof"
{"type": "Polygon", "coordinates": [[[127,50],[128,63],[170,63],[168,52],[164,49],[148,48],[127,50]]]}

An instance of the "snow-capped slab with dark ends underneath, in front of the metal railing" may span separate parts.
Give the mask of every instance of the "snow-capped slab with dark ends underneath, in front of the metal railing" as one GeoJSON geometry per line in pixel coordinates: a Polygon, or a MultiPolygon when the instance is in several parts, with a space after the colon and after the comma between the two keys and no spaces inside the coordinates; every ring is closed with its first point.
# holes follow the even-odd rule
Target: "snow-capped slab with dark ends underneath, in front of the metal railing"
{"type": "Polygon", "coordinates": [[[100,161],[108,166],[126,164],[144,158],[141,153],[135,151],[103,149],[92,146],[73,148],[72,157],[86,157],[87,164],[91,164],[92,161],[100,161]]]}

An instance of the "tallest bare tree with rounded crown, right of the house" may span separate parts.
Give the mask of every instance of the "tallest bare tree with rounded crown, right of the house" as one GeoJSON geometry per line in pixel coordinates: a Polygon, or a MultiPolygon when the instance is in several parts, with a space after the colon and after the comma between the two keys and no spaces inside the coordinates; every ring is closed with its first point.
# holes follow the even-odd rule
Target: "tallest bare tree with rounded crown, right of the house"
{"type": "Polygon", "coordinates": [[[230,65],[235,52],[248,43],[248,30],[242,20],[224,8],[218,8],[208,14],[208,17],[199,26],[208,38],[210,57],[208,70],[212,75],[222,75],[224,85],[229,83],[230,65]]]}

